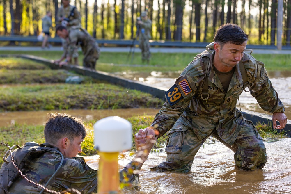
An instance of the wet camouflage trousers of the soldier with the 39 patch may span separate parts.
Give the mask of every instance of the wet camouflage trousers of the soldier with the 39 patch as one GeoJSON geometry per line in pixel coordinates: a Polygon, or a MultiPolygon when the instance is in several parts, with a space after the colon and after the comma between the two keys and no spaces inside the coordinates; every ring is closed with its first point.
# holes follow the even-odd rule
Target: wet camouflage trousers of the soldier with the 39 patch
{"type": "Polygon", "coordinates": [[[234,159],[237,167],[244,170],[255,170],[265,166],[267,161],[265,145],[251,121],[246,120],[241,125],[240,132],[233,145],[221,140],[216,129],[203,140],[199,140],[191,129],[177,121],[169,131],[166,145],[166,161],[152,169],[156,168],[157,171],[189,172],[194,156],[210,135],[235,153],[234,159]]]}

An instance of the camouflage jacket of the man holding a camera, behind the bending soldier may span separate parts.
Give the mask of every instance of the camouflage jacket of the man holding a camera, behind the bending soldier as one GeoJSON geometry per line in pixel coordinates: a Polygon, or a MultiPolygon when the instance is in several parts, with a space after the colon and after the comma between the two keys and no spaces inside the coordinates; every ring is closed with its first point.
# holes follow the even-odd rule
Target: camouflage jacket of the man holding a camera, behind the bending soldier
{"type": "Polygon", "coordinates": [[[66,8],[62,5],[60,8],[58,8],[58,13],[57,13],[57,22],[56,24],[61,24],[61,19],[63,18],[68,18],[69,22],[67,24],[67,28],[70,29],[72,26],[79,26],[81,27],[81,15],[77,8],[74,9],[73,14],[70,15],[72,12],[73,8],[75,6],[69,5],[66,8]]]}

